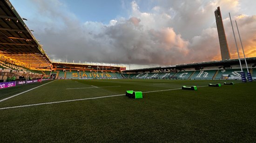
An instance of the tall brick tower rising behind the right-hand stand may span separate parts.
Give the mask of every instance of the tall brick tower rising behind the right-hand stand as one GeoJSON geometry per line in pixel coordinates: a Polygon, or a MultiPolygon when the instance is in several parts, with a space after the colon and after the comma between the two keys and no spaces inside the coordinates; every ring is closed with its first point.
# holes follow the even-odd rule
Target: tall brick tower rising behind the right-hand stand
{"type": "Polygon", "coordinates": [[[214,13],[215,13],[216,25],[217,25],[218,35],[219,35],[222,60],[228,60],[230,59],[229,46],[227,43],[227,38],[226,38],[226,34],[225,34],[223,22],[222,22],[222,14],[221,14],[220,6],[217,7],[214,13]]]}

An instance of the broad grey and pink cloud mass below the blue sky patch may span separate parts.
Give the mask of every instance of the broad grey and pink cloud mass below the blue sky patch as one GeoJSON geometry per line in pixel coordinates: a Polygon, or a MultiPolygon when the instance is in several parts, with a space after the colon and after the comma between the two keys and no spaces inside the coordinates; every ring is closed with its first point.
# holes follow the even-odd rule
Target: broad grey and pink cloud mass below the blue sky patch
{"type": "MultiPolygon", "coordinates": [[[[214,18],[217,5],[224,9],[224,26],[230,52],[236,57],[227,11],[234,13],[244,35],[244,46],[253,56],[255,16],[235,16],[237,0],[159,0],[149,12],[131,3],[130,18],[81,22],[58,0],[31,0],[37,7],[31,24],[52,59],[75,62],[108,62],[170,65],[220,59],[214,18]],[[38,19],[40,17],[41,19],[38,19]],[[248,29],[250,28],[250,30],[248,29]]],[[[255,56],[255,55],[254,55],[255,56]]]]}

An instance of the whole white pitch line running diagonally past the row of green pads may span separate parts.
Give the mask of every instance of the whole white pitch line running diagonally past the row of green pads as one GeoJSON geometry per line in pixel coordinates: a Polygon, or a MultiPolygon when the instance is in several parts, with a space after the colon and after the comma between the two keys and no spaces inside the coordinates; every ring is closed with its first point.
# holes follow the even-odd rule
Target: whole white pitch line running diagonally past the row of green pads
{"type": "MultiPolygon", "coordinates": [[[[208,87],[208,86],[200,86],[200,87],[208,87]]],[[[94,88],[95,88],[95,87],[94,87],[94,88]]],[[[182,88],[165,89],[165,90],[155,90],[155,91],[147,91],[147,92],[142,92],[142,93],[155,93],[155,92],[170,91],[170,90],[179,90],[179,89],[182,89],[182,88]]],[[[88,100],[88,99],[108,98],[108,97],[123,96],[123,95],[125,95],[125,94],[117,94],[117,95],[109,95],[109,96],[101,96],[101,97],[92,97],[92,98],[84,98],[84,99],[74,99],[74,100],[64,100],[64,101],[56,101],[56,102],[46,102],[46,103],[30,104],[30,105],[22,105],[22,106],[12,106],[12,107],[0,108],[0,110],[3,110],[3,109],[10,109],[10,108],[28,107],[28,106],[39,106],[39,105],[45,105],[45,104],[63,103],[63,102],[73,102],[73,101],[88,100]]]]}

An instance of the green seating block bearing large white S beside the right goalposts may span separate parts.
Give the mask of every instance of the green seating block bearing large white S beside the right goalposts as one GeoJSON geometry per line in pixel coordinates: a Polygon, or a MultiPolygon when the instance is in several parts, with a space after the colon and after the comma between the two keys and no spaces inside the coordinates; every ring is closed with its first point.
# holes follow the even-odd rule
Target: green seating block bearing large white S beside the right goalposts
{"type": "MultiPolygon", "coordinates": [[[[219,73],[216,75],[215,79],[223,79],[223,75],[228,75],[229,78],[239,79],[241,69],[221,69],[219,73]]],[[[243,69],[245,75],[247,75],[247,69],[243,69]]]]}

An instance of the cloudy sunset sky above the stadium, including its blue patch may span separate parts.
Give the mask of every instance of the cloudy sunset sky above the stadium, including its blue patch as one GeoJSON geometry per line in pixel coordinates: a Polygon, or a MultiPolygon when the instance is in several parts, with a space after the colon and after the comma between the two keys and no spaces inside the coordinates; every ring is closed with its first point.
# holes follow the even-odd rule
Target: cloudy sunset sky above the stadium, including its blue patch
{"type": "Polygon", "coordinates": [[[256,56],[256,0],[10,1],[55,61],[114,63],[127,69],[131,63],[135,69],[221,60],[217,6],[231,59],[238,56],[229,12],[246,57],[256,56]]]}

